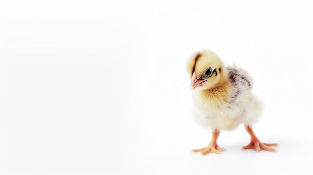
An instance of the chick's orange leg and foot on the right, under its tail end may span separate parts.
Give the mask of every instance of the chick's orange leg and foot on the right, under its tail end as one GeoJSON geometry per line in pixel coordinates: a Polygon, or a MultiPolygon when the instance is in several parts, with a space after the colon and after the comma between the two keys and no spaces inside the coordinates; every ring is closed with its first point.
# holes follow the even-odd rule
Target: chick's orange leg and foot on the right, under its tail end
{"type": "Polygon", "coordinates": [[[253,149],[256,152],[259,152],[261,150],[265,150],[265,151],[270,151],[270,152],[277,152],[275,149],[270,148],[270,146],[277,146],[278,144],[265,144],[265,143],[261,143],[257,137],[254,135],[253,130],[250,126],[244,126],[245,130],[249,133],[249,135],[251,136],[251,142],[245,146],[242,147],[242,150],[246,150],[246,149],[253,149]]]}

